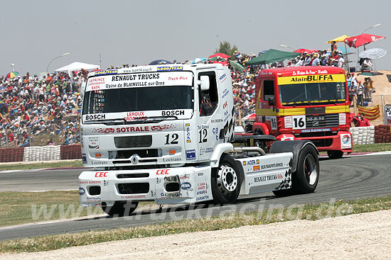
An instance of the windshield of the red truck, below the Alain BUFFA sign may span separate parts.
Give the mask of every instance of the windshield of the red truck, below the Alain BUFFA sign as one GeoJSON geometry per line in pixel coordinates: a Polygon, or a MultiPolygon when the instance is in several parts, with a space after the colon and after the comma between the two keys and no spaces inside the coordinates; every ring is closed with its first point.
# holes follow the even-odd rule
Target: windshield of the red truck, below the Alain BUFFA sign
{"type": "Polygon", "coordinates": [[[279,85],[282,106],[300,103],[342,103],[346,101],[345,82],[279,85]]]}

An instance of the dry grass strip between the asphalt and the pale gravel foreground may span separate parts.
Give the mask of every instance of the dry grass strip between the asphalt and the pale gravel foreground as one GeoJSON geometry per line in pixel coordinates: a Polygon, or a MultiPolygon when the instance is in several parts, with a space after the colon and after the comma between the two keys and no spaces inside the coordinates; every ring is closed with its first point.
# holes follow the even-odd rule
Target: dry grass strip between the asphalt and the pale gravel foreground
{"type": "Polygon", "coordinates": [[[49,251],[65,247],[75,247],[122,239],[153,237],[183,232],[223,230],[244,225],[264,225],[289,220],[319,220],[325,217],[388,209],[391,209],[391,196],[350,201],[338,200],[328,204],[292,205],[288,208],[273,207],[268,210],[205,217],[200,220],[176,220],[143,227],[129,227],[114,230],[9,240],[0,242],[0,253],[49,251]]]}

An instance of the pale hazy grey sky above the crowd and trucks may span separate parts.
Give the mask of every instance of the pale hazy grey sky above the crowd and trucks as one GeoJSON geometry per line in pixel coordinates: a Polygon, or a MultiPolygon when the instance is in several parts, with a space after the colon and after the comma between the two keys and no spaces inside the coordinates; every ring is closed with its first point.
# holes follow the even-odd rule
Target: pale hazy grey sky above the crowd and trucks
{"type": "MultiPolygon", "coordinates": [[[[213,54],[227,40],[247,54],[279,45],[325,49],[340,35],[387,35],[391,1],[3,1],[0,75],[53,72],[71,62],[148,64],[213,54]]],[[[343,46],[343,43],[340,43],[343,46]]],[[[391,69],[390,39],[367,45],[390,52],[375,60],[391,69]]],[[[360,47],[360,51],[363,47],[360,47]]],[[[353,49],[353,51],[356,51],[353,49]]],[[[350,55],[357,57],[357,55],[350,55]]]]}

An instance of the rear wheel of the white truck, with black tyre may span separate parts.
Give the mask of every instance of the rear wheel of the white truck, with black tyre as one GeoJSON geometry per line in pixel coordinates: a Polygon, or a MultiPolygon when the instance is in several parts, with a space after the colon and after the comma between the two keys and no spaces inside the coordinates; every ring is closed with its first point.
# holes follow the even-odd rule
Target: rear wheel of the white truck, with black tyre
{"type": "Polygon", "coordinates": [[[292,174],[292,192],[312,193],[319,180],[318,153],[312,145],[306,145],[300,152],[296,172],[292,174]]]}

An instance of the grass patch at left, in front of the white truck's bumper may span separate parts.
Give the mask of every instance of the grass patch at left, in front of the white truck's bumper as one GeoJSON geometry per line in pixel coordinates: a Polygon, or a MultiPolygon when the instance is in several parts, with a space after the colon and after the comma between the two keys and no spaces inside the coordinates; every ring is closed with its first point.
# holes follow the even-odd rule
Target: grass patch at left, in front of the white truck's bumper
{"type": "MultiPolygon", "coordinates": [[[[6,191],[0,198],[0,227],[103,214],[100,207],[81,207],[78,191],[6,191]]],[[[146,201],[139,207],[154,204],[146,201]]]]}

